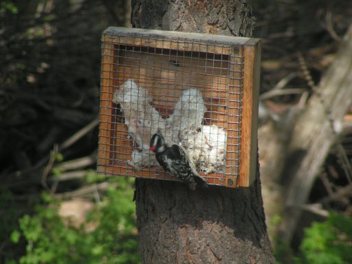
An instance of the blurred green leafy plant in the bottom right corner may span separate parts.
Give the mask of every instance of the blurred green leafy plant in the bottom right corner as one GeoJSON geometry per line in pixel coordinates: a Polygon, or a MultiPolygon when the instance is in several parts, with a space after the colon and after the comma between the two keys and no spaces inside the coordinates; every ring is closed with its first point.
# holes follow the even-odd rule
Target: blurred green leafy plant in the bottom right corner
{"type": "Polygon", "coordinates": [[[300,250],[303,258],[298,263],[352,263],[352,219],[342,214],[331,214],[327,221],[314,222],[305,230],[300,250]]]}

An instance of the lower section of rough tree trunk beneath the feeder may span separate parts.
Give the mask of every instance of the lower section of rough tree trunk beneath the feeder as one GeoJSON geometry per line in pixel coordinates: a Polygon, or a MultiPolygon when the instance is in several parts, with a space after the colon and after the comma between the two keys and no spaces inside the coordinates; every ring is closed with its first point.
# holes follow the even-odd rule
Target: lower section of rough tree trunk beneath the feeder
{"type": "Polygon", "coordinates": [[[259,173],[250,188],[137,180],[143,263],[274,263],[259,173]]]}

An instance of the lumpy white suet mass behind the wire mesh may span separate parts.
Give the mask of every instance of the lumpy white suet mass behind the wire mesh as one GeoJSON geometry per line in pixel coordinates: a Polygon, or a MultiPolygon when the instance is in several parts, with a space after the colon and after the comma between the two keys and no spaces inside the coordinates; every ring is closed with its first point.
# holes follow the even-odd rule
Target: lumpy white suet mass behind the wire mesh
{"type": "Polygon", "coordinates": [[[129,135],[139,146],[128,161],[136,170],[158,164],[149,151],[151,136],[157,132],[164,135],[167,142],[186,148],[190,162],[199,170],[212,173],[223,168],[227,134],[219,126],[202,124],[207,109],[198,89],[183,91],[173,114],[166,120],[153,107],[153,97],[148,90],[131,79],[115,91],[113,102],[120,104],[129,135]]]}

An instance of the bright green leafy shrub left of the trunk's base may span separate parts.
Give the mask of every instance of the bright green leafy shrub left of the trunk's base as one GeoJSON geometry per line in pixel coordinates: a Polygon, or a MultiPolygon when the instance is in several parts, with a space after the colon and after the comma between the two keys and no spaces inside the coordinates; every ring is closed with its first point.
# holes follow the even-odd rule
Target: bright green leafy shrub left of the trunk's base
{"type": "Polygon", "coordinates": [[[57,212],[58,201],[45,193],[36,214],[23,216],[20,231],[10,235],[13,243],[20,236],[26,241],[26,254],[19,263],[139,263],[133,188],[130,179],[117,181],[120,187],[109,188],[79,228],[63,221],[57,212]],[[95,228],[89,231],[88,226],[95,228]]]}

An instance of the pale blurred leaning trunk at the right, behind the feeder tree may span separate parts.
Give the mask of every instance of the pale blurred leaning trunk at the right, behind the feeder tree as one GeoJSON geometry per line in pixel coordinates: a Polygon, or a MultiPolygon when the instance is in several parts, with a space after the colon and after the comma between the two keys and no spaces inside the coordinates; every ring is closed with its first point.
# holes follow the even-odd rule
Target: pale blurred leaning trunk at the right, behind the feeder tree
{"type": "MultiPolygon", "coordinates": [[[[342,122],[352,102],[352,25],[342,43],[336,61],[320,82],[316,92],[300,115],[288,153],[290,162],[283,169],[283,176],[291,179],[285,201],[287,210],[281,226],[281,239],[291,241],[303,206],[320,168],[333,144],[342,133],[342,122]],[[292,160],[294,162],[292,162],[292,160]]],[[[283,178],[283,177],[282,177],[283,178]]]]}

